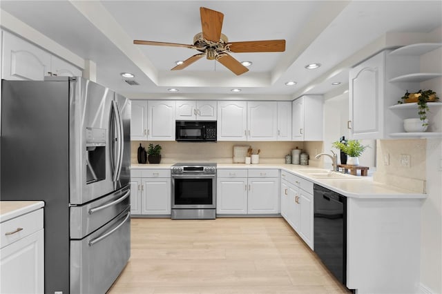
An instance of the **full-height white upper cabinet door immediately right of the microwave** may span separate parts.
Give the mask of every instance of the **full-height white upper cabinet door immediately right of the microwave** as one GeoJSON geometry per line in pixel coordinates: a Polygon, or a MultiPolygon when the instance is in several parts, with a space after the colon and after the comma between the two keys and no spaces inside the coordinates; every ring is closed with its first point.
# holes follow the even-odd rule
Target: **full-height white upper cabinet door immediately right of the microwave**
{"type": "Polygon", "coordinates": [[[218,141],[247,140],[247,102],[218,101],[218,141]]]}

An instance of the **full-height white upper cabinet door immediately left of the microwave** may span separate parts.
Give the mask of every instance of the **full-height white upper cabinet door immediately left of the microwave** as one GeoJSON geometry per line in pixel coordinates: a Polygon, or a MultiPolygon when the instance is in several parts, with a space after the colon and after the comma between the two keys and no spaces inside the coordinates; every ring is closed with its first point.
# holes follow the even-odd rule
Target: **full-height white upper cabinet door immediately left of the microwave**
{"type": "Polygon", "coordinates": [[[175,141],[175,101],[149,100],[147,139],[175,141]]]}

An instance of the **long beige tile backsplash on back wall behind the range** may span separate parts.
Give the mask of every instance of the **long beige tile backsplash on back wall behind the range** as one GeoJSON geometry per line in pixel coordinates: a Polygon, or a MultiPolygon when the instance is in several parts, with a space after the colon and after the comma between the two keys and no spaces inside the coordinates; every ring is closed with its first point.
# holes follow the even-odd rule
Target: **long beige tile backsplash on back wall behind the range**
{"type": "Polygon", "coordinates": [[[297,141],[218,141],[216,143],[184,143],[177,141],[131,141],[131,164],[137,164],[137,148],[142,144],[148,148],[148,144],[160,144],[162,146],[161,162],[164,164],[177,161],[215,161],[218,163],[233,162],[233,146],[250,145],[253,153],[258,149],[260,152],[260,163],[285,163],[285,155],[291,154],[291,149],[302,149],[305,142],[297,141]]]}

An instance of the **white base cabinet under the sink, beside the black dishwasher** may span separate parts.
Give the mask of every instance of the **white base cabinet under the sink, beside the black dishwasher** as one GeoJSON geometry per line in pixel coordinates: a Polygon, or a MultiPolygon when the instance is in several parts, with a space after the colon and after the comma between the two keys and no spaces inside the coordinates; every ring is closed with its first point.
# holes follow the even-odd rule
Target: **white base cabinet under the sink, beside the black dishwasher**
{"type": "Polygon", "coordinates": [[[313,183],[291,173],[281,171],[280,203],[282,217],[313,249],[313,183]]]}

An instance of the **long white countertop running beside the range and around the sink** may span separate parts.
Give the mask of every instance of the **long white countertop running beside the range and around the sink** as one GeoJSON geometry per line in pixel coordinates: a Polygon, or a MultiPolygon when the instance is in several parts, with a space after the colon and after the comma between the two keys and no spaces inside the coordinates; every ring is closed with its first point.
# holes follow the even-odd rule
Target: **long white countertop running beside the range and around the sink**
{"type": "MultiPolygon", "coordinates": [[[[171,168],[173,164],[133,164],[132,169],[144,168],[171,168]]],[[[318,169],[311,166],[301,166],[296,164],[217,164],[218,169],[250,169],[250,168],[278,168],[293,173],[299,177],[304,177],[314,184],[319,184],[336,193],[346,197],[366,198],[366,199],[422,199],[426,194],[416,193],[395,186],[389,186],[374,182],[372,177],[352,176],[349,179],[323,179],[311,177],[305,173],[306,169],[318,169]],[[304,170],[304,171],[302,171],[304,170]]],[[[323,169],[323,168],[319,168],[323,169]]]]}

